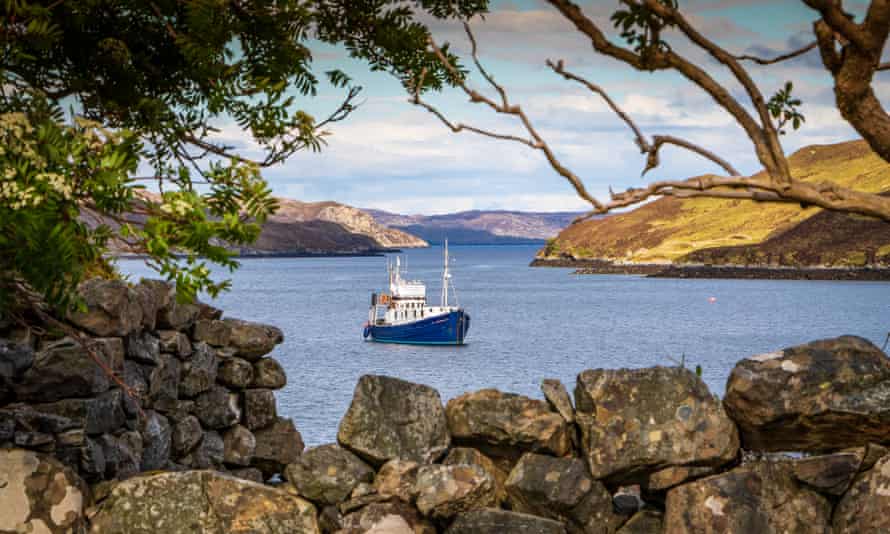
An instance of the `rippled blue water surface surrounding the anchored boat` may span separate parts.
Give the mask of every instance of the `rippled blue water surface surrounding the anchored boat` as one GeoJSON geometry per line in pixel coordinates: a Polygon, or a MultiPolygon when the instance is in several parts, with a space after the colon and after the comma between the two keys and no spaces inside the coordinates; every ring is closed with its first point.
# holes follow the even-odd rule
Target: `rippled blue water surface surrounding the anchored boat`
{"type": "MultiPolygon", "coordinates": [[[[359,376],[386,374],[434,386],[443,400],[496,387],[541,397],[541,379],[570,389],[594,367],[702,366],[722,394],[740,358],[823,337],[855,334],[879,346],[890,330],[890,284],[772,280],[669,280],[573,276],[528,267],[535,247],[452,247],[460,304],[472,316],[464,347],[362,340],[383,258],[250,259],[213,304],[227,316],[285,333],[273,354],[287,370],[279,412],[308,445],[336,439],[359,376]],[[715,297],[715,302],[710,302],[715,297]]],[[[438,299],[441,249],[407,251],[411,278],[438,299]]],[[[123,272],[148,276],[137,260],[123,272]]]]}

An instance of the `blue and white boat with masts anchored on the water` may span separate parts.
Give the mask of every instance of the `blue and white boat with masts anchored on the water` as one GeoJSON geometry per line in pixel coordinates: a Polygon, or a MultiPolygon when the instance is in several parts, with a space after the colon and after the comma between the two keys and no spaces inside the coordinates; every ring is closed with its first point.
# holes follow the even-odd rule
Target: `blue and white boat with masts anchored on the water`
{"type": "Polygon", "coordinates": [[[407,280],[401,258],[387,261],[389,292],[372,293],[364,337],[380,343],[409,345],[463,345],[470,329],[470,316],[457,305],[456,292],[448,269],[448,241],[445,241],[442,295],[438,306],[426,301],[426,285],[407,280]],[[455,304],[449,304],[449,290],[455,304]]]}

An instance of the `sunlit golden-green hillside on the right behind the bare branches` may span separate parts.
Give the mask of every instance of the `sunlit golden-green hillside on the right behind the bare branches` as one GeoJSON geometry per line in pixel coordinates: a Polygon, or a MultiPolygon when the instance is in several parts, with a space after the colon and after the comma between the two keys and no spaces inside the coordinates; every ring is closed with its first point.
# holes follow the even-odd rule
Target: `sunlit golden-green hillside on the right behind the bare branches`
{"type": "MultiPolygon", "coordinates": [[[[805,147],[789,162],[803,180],[890,190],[890,164],[862,141],[805,147]]],[[[666,197],[572,225],[538,254],[560,256],[650,264],[886,264],[890,225],[797,204],[666,197]]]]}

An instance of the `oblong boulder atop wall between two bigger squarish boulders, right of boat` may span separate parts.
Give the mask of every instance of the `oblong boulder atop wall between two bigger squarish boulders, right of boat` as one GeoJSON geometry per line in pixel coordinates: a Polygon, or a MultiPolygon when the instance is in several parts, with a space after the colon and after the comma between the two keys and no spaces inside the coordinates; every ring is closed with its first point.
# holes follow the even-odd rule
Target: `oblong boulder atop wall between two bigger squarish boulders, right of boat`
{"type": "Polygon", "coordinates": [[[451,399],[445,414],[455,444],[494,457],[563,456],[572,449],[569,425],[544,401],[483,389],[451,399]]]}

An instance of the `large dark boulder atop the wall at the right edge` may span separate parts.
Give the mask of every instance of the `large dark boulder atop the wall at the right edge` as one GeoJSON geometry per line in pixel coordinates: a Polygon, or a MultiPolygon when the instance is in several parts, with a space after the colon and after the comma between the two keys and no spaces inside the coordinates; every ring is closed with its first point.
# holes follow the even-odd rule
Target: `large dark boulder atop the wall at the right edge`
{"type": "Polygon", "coordinates": [[[890,439],[890,358],[843,336],[741,360],[724,404],[749,450],[830,451],[890,439]]]}

